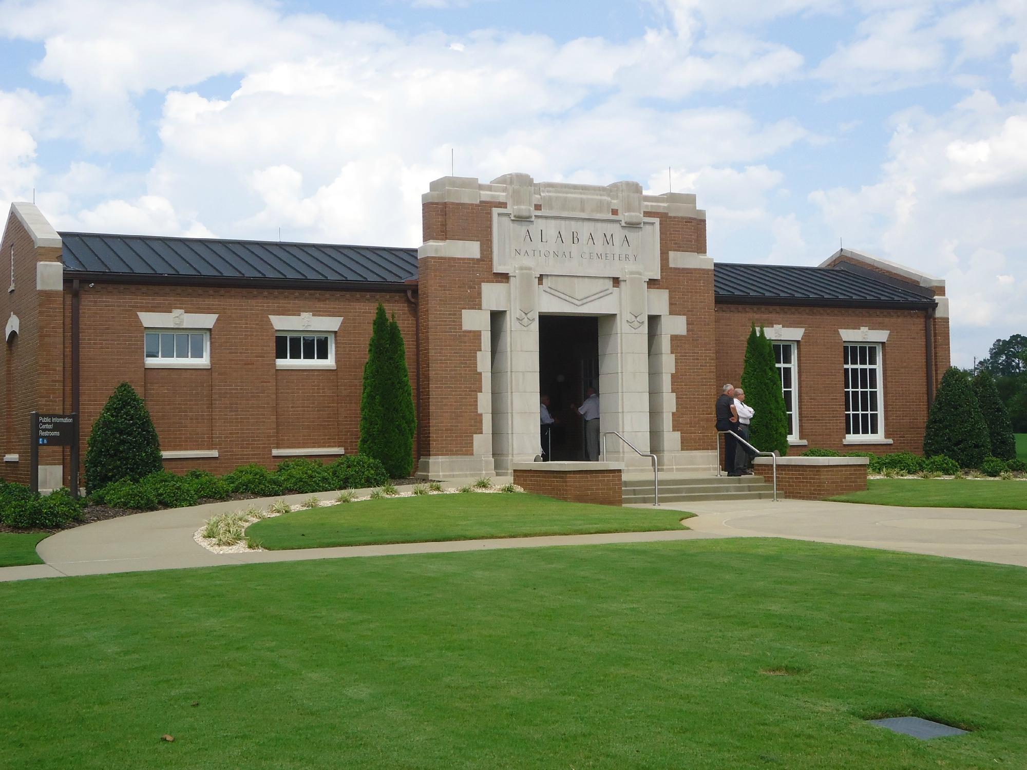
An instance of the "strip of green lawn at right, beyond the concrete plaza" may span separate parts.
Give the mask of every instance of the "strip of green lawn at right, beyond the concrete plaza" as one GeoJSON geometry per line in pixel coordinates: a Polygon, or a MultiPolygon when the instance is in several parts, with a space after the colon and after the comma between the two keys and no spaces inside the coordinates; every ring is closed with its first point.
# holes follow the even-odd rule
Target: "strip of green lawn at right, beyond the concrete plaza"
{"type": "Polygon", "coordinates": [[[871,478],[866,492],[832,497],[841,503],[914,508],[1027,509],[1027,482],[983,478],[871,478]]]}

